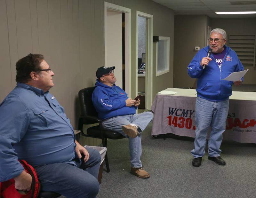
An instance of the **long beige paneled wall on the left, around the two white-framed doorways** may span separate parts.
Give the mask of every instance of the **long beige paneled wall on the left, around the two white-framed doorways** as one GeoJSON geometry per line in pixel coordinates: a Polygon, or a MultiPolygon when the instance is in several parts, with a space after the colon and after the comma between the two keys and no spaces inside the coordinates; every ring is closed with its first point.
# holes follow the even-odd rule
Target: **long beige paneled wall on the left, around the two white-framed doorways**
{"type": "MultiPolygon", "coordinates": [[[[137,72],[135,24],[138,10],[153,15],[154,35],[171,38],[170,72],[153,76],[153,97],[157,91],[172,87],[172,10],[149,0],[107,2],[131,9],[131,86],[135,87],[137,72]]],[[[41,53],[55,73],[51,93],[76,128],[80,115],[78,91],[94,86],[95,71],[104,65],[104,1],[0,0],[0,24],[0,102],[16,85],[17,60],[29,53],[41,53]]],[[[132,90],[131,97],[136,95],[132,90]]]]}

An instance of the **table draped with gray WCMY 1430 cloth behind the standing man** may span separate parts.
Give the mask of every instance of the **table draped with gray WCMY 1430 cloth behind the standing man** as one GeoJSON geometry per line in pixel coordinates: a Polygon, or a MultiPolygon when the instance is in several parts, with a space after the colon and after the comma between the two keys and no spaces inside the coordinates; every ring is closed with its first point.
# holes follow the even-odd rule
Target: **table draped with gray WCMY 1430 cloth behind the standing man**
{"type": "MultiPolygon", "coordinates": [[[[155,113],[151,135],[173,133],[194,138],[196,90],[168,88],[166,91],[177,93],[156,95],[151,106],[155,113]]],[[[223,139],[256,143],[256,92],[233,91],[223,139]]]]}

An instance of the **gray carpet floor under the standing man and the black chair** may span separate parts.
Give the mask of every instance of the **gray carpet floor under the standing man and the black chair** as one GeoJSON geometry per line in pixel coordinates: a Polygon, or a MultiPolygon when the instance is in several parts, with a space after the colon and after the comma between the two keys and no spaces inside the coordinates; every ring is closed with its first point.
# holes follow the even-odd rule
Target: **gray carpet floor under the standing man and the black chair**
{"type": "Polygon", "coordinates": [[[97,197],[256,197],[256,144],[223,141],[225,166],[208,160],[206,152],[202,165],[193,167],[192,138],[152,138],[151,127],[143,131],[141,157],[151,177],[130,173],[128,139],[109,139],[110,172],[103,170],[97,197]]]}

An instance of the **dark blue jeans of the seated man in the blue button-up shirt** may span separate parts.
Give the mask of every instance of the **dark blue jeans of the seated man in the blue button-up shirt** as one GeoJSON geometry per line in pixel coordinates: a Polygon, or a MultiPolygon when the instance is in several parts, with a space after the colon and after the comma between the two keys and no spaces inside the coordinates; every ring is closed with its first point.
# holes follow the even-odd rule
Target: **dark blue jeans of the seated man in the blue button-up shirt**
{"type": "Polygon", "coordinates": [[[90,157],[80,169],[82,161],[75,159],[77,167],[71,163],[54,163],[34,167],[41,184],[42,191],[52,191],[67,198],[96,197],[99,192],[98,173],[100,168],[99,151],[86,148],[90,157]]]}

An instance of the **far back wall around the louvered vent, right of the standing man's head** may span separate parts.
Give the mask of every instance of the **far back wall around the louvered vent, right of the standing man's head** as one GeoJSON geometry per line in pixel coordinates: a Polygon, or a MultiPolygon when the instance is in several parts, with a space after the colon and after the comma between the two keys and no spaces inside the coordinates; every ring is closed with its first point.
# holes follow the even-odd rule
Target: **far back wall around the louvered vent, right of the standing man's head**
{"type": "MultiPolygon", "coordinates": [[[[256,35],[256,18],[243,19],[211,19],[212,29],[222,28],[229,34],[256,35]]],[[[228,43],[227,43],[228,45],[228,43]]],[[[256,70],[253,67],[244,67],[249,71],[244,76],[244,84],[256,84],[256,70]]]]}

